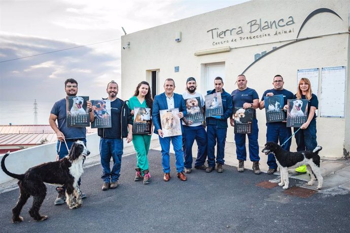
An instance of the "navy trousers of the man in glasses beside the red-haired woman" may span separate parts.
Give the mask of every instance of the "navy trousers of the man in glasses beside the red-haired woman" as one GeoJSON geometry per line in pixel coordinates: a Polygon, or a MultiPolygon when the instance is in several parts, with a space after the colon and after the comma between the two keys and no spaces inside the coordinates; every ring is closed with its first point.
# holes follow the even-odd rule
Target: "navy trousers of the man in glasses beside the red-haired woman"
{"type": "MultiPolygon", "coordinates": [[[[279,145],[282,145],[291,135],[292,129],[290,127],[286,127],[286,123],[276,122],[267,124],[266,142],[278,143],[279,141],[279,145]]],[[[282,148],[289,151],[291,144],[292,139],[289,139],[282,148]]],[[[276,158],[273,154],[268,155],[267,165],[268,168],[277,169],[276,158]]]]}

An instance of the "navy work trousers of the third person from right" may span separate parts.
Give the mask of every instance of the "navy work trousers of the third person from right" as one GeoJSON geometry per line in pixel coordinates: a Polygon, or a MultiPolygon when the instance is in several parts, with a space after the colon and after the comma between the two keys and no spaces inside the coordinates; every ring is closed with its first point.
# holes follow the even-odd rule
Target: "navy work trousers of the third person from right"
{"type": "Polygon", "coordinates": [[[260,161],[258,134],[259,128],[257,119],[253,119],[253,132],[251,134],[234,134],[234,141],[236,143],[236,154],[238,160],[247,160],[246,135],[248,135],[249,158],[252,162],[260,161]]]}

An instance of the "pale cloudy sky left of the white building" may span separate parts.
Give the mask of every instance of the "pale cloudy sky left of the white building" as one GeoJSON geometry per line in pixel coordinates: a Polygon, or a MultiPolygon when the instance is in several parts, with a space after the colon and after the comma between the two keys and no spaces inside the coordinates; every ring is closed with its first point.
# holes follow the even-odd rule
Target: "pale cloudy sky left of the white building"
{"type": "Polygon", "coordinates": [[[243,2],[0,0],[0,101],[54,103],[67,78],[81,96],[106,97],[106,84],[121,80],[121,27],[132,33],[243,2]]]}

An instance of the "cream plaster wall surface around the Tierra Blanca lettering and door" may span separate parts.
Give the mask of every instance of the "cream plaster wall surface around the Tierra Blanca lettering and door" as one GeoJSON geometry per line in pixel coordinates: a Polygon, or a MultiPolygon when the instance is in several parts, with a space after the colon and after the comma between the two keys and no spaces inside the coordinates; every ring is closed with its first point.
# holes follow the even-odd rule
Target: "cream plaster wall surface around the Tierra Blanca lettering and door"
{"type": "MultiPolygon", "coordinates": [[[[165,78],[173,78],[176,81],[175,91],[182,93],[187,77],[193,76],[197,79],[198,90],[204,95],[205,64],[217,62],[225,62],[224,88],[231,92],[237,88],[234,85],[236,76],[254,62],[255,54],[270,52],[274,47],[278,48],[294,41],[305,18],[320,8],[331,9],[342,20],[331,13],[314,15],[303,26],[298,38],[317,38],[296,42],[276,50],[255,63],[245,73],[248,86],[256,89],[260,98],[266,89],[272,88],[272,78],[275,74],[283,75],[285,88],[295,93],[298,69],[348,66],[349,1],[251,1],[122,36],[122,46],[130,42],[130,49],[122,49],[122,99],[132,96],[139,81],[149,81],[147,70],[154,69],[160,70],[161,92],[165,78]],[[260,22],[261,19],[262,25],[265,25],[264,21],[276,21],[284,25],[288,21],[291,22],[291,17],[294,22],[291,25],[278,29],[272,26],[273,29],[250,33],[257,28],[252,22],[254,20],[260,22]],[[213,38],[209,30],[214,28],[219,29],[213,30],[213,38]],[[232,30],[232,35],[229,35],[228,31],[226,36],[221,35],[224,38],[216,35],[216,31],[232,28],[237,28],[232,30]],[[239,30],[242,33],[236,34],[239,30]],[[274,35],[276,31],[278,33],[283,30],[291,32],[274,35]],[[182,32],[181,42],[175,41],[177,31],[182,32]],[[241,38],[250,36],[251,39],[241,38]],[[258,38],[253,38],[254,36],[258,38]],[[231,51],[204,56],[194,55],[198,51],[223,46],[230,46],[231,51]],[[174,72],[174,66],[179,66],[180,72],[174,72]]],[[[347,97],[348,90],[349,82],[346,88],[347,97]]],[[[320,92],[317,95],[320,97],[320,92]]],[[[348,105],[348,102],[346,104],[348,105]]],[[[317,136],[318,144],[324,148],[322,156],[340,158],[343,156],[344,145],[349,151],[349,137],[346,137],[350,127],[348,107],[346,111],[345,118],[318,118],[317,136]]],[[[264,111],[258,111],[258,120],[259,144],[263,145],[266,138],[264,111]]],[[[228,130],[227,141],[233,141],[231,127],[228,130]]],[[[294,139],[293,147],[295,148],[294,139]]]]}

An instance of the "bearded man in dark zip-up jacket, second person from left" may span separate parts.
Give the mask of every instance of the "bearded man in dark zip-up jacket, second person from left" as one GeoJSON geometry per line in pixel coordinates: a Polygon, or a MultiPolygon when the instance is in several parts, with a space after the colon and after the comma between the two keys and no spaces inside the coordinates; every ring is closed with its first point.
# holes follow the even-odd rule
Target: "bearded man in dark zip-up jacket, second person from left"
{"type": "MultiPolygon", "coordinates": [[[[126,142],[132,141],[132,116],[125,101],[117,98],[118,84],[110,81],[107,84],[108,100],[111,101],[112,127],[99,128],[99,154],[102,165],[102,191],[116,189],[120,176],[120,167],[123,155],[123,138],[126,142]],[[110,162],[113,158],[113,167],[111,170],[110,162]]],[[[90,118],[93,117],[95,106],[90,110],[90,118]]]]}

